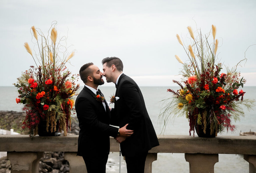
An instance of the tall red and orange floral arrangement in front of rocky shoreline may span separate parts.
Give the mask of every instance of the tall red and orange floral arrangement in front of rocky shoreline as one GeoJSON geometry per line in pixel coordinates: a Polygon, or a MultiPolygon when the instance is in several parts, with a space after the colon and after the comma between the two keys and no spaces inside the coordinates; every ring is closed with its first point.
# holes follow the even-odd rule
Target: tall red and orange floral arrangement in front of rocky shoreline
{"type": "Polygon", "coordinates": [[[23,103],[22,110],[26,112],[22,130],[28,129],[30,137],[38,134],[38,125],[42,120],[46,120],[47,131],[50,128],[51,132],[55,132],[59,128],[66,136],[68,124],[71,124],[71,112],[74,113],[73,98],[79,88],[75,82],[79,75],[71,75],[66,67],[74,51],[68,55],[66,46],[61,45],[66,42],[66,37],[57,42],[56,24],[51,25],[47,37],[40,29],[31,27],[39,52],[33,55],[27,42],[24,46],[34,61],[37,59],[38,62],[35,61],[36,66],[30,66],[17,78],[17,84],[14,83],[19,93],[16,102],[23,103]]]}

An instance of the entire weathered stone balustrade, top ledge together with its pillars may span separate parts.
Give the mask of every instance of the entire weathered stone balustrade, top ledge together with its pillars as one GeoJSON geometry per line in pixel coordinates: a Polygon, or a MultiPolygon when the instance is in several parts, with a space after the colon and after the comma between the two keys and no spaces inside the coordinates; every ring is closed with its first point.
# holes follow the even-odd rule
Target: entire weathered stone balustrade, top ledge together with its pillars
{"type": "MultiPolygon", "coordinates": [[[[28,135],[0,136],[0,152],[7,151],[12,165],[11,173],[38,172],[39,159],[44,151],[64,151],[69,161],[70,173],[86,172],[82,157],[76,156],[77,135],[29,138],[28,135]]],[[[255,136],[218,136],[199,138],[187,135],[158,136],[160,145],[149,151],[145,172],[152,172],[152,162],[157,153],[185,153],[189,172],[214,172],[218,154],[242,154],[249,162],[249,173],[256,173],[255,136]]],[[[119,152],[119,144],[111,137],[110,152],[119,152]]],[[[245,170],[244,172],[248,172],[245,170]]]]}

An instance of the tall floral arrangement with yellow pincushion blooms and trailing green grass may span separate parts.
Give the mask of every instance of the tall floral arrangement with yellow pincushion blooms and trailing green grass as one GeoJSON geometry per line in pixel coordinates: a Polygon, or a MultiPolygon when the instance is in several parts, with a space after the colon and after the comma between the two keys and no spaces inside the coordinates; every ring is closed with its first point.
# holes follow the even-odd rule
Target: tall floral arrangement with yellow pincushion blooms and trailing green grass
{"type": "Polygon", "coordinates": [[[163,107],[159,119],[164,125],[163,130],[170,115],[174,114],[186,115],[190,126],[189,135],[191,131],[195,134],[195,126],[197,128],[201,126],[204,134],[206,129],[209,129],[211,135],[215,132],[215,136],[225,129],[233,132],[236,126],[232,124],[232,120],[236,122],[240,120],[240,116],[244,116],[241,105],[248,110],[255,105],[254,100],[243,99],[246,92],[238,89],[240,86],[243,87],[246,80],[240,77],[240,72],[236,72],[236,69],[242,61],[247,59],[241,60],[232,69],[226,67],[226,72],[222,72],[222,64],[216,62],[218,49],[218,39],[215,39],[216,27],[212,25],[212,31],[205,36],[197,30],[197,37],[194,36],[190,26],[187,28],[192,38],[192,44],[188,49],[185,48],[178,34],[176,37],[189,60],[188,63],[183,63],[175,55],[178,62],[183,64],[181,74],[184,78],[181,83],[173,80],[180,89],[177,91],[168,89],[167,91],[171,92],[173,97],[162,100],[163,107]],[[211,33],[213,43],[209,42],[212,39],[211,33]]]}

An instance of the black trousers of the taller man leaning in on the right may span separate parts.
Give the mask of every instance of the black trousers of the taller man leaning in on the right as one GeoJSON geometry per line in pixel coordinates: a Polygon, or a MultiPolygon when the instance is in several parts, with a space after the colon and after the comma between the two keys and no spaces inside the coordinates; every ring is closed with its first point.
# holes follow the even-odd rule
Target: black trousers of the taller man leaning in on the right
{"type": "Polygon", "coordinates": [[[144,173],[147,153],[140,153],[136,156],[125,156],[127,173],[144,173]]]}

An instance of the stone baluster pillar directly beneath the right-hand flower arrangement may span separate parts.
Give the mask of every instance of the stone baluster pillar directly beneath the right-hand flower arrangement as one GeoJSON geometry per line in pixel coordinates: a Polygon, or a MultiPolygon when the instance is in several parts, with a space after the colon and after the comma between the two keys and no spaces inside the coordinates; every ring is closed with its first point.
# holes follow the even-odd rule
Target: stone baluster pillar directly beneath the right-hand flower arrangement
{"type": "Polygon", "coordinates": [[[214,173],[214,165],[219,162],[219,155],[185,153],[185,159],[189,162],[189,173],[214,173]]]}

